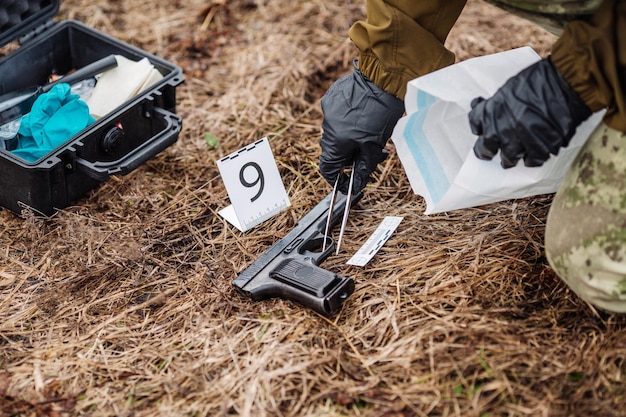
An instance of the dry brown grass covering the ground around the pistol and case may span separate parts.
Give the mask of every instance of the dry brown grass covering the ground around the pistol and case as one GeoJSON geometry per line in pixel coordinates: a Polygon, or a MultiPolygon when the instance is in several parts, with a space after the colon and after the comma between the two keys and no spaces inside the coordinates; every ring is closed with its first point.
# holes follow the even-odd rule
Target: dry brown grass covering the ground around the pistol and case
{"type": "MultiPolygon", "coordinates": [[[[49,219],[0,211],[0,415],[626,415],[626,319],[547,265],[551,196],[424,216],[391,145],[323,264],[356,281],[340,314],[233,290],[330,191],[319,98],[350,70],[363,4],[62,2],[60,18],[183,68],[184,127],[49,219]],[[266,135],[292,207],[240,233],[217,214],[215,161],[266,135]],[[347,266],[385,215],[404,221],[367,267],[347,266]]],[[[474,0],[448,44],[465,59],[552,41],[474,0]]]]}

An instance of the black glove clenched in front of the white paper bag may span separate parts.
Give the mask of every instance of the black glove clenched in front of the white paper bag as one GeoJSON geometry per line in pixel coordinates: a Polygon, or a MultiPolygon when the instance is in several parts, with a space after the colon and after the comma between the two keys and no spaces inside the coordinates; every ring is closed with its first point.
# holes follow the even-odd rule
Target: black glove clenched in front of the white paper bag
{"type": "Polygon", "coordinates": [[[478,135],[474,153],[491,160],[501,152],[502,167],[520,159],[540,166],[550,154],[567,146],[591,111],[556,70],[550,58],[510,78],[493,97],[472,101],[472,132],[478,135]]]}

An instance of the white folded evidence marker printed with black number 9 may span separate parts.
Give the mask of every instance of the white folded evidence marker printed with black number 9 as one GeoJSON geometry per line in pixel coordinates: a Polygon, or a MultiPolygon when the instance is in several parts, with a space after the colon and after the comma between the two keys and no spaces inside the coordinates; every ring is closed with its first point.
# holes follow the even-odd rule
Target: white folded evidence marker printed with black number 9
{"type": "Polygon", "coordinates": [[[232,203],[219,214],[245,232],[291,205],[267,138],[217,161],[232,203]]]}

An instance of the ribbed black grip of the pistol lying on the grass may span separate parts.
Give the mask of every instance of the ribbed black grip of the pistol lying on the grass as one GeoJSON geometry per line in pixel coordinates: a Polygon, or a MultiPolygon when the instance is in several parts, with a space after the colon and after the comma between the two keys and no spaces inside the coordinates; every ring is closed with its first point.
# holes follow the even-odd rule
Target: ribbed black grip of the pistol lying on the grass
{"type": "Polygon", "coordinates": [[[331,316],[354,291],[354,281],[333,274],[319,266],[293,258],[283,260],[270,273],[278,282],[276,290],[291,300],[331,316]]]}

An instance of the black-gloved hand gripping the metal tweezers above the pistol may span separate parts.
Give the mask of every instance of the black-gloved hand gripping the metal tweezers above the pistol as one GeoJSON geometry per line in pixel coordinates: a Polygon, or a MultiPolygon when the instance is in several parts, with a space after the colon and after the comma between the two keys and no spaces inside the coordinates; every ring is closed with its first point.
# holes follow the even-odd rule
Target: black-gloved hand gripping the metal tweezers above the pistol
{"type": "MultiPolygon", "coordinates": [[[[352,190],[357,193],[387,157],[384,147],[404,113],[404,103],[368,80],[355,61],[354,71],[335,81],[322,97],[322,111],[322,176],[334,185],[341,169],[354,162],[352,190]]],[[[347,192],[346,174],[341,176],[338,189],[347,192]]]]}

